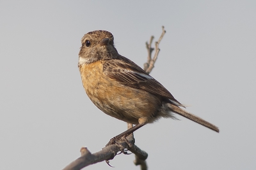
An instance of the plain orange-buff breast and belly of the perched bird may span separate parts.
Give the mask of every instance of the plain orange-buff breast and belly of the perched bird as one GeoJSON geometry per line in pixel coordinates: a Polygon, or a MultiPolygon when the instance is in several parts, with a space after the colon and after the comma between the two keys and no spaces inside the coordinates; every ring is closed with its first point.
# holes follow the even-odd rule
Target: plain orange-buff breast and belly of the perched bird
{"type": "Polygon", "coordinates": [[[102,62],[79,67],[83,87],[91,101],[104,113],[125,122],[138,124],[138,118],[152,118],[161,102],[144,90],[134,89],[109,78],[102,62]]]}

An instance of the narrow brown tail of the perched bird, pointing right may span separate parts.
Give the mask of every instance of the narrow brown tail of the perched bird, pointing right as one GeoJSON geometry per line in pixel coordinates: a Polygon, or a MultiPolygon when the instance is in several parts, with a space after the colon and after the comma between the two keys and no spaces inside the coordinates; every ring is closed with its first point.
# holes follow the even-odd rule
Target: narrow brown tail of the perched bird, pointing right
{"type": "Polygon", "coordinates": [[[195,115],[189,113],[188,111],[182,110],[181,108],[179,108],[178,106],[175,106],[174,104],[168,103],[167,105],[168,105],[168,108],[174,113],[177,113],[182,117],[186,117],[200,125],[204,125],[205,127],[212,129],[212,131],[219,132],[219,129],[218,127],[216,127],[216,125],[213,125],[200,117],[196,117],[195,115]]]}

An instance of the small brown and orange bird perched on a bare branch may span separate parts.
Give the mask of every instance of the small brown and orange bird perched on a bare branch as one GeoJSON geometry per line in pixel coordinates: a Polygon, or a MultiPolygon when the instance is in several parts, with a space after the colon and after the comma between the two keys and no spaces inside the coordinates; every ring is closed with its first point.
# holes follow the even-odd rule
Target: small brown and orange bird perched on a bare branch
{"type": "Polygon", "coordinates": [[[186,107],[159,81],[120,55],[111,32],[88,32],[81,44],[78,67],[86,94],[107,115],[134,124],[112,138],[111,143],[159,118],[176,119],[175,114],[219,132],[216,125],[182,109],[186,107]]]}

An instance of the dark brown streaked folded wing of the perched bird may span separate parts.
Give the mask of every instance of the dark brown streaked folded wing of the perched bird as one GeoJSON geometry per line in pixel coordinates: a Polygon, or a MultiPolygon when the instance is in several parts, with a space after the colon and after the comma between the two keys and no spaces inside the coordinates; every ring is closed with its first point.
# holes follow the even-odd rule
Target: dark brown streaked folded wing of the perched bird
{"type": "Polygon", "coordinates": [[[125,57],[106,60],[103,71],[109,78],[113,78],[123,85],[168,98],[178,106],[182,106],[161,83],[147,74],[140,66],[125,57]]]}

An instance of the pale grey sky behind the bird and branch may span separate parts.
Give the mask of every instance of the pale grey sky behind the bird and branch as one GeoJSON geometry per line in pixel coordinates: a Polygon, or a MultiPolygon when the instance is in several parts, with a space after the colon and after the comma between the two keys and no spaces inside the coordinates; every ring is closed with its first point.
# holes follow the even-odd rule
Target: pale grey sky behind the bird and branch
{"type": "MultiPolygon", "coordinates": [[[[0,1],[0,169],[63,169],[126,130],[98,110],[77,68],[81,38],[107,30],[139,66],[220,134],[183,117],[135,132],[149,169],[255,169],[256,1],[0,1]]],[[[118,155],[114,169],[140,169],[118,155]]],[[[101,162],[86,169],[113,169],[101,162]]]]}

